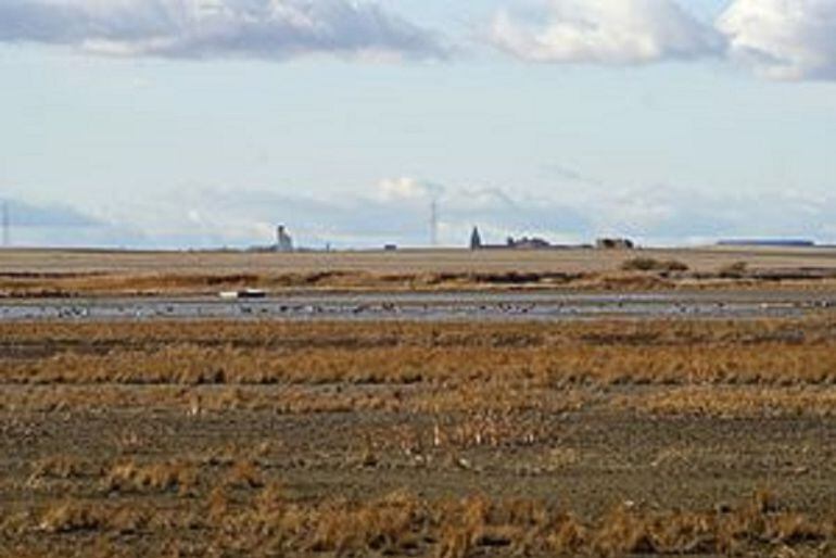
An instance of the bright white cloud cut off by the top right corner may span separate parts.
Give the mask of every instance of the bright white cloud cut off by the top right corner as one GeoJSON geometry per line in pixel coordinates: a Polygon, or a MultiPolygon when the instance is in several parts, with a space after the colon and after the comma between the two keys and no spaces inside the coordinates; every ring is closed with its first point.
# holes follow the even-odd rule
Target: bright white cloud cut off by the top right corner
{"type": "Polygon", "coordinates": [[[718,28],[760,75],[836,79],[836,0],[734,0],[718,28]]]}

